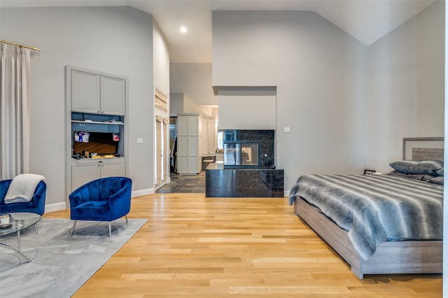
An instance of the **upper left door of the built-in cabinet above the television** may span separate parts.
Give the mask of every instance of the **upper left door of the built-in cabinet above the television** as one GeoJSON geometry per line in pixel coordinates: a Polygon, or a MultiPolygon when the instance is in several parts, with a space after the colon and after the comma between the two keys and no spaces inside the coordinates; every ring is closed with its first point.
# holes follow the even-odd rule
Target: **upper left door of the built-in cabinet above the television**
{"type": "Polygon", "coordinates": [[[99,113],[99,75],[71,70],[71,111],[99,113]]]}

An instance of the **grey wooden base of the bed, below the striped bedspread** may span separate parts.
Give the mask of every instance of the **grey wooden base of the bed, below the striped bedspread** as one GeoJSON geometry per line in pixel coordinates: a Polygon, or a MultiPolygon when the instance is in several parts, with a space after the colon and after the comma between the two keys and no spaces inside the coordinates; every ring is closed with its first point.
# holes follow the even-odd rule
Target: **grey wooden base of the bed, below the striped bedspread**
{"type": "Polygon", "coordinates": [[[348,233],[307,201],[296,197],[294,212],[349,263],[360,279],[364,274],[442,273],[442,241],[387,241],[365,261],[354,250],[348,233]]]}

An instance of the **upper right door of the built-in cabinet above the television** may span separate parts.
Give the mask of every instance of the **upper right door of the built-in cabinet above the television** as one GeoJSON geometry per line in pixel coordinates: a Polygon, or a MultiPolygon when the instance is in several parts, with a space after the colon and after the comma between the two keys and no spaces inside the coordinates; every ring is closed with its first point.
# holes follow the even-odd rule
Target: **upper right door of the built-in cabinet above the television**
{"type": "Polygon", "coordinates": [[[121,78],[101,77],[101,110],[104,114],[125,115],[126,83],[121,78]]]}

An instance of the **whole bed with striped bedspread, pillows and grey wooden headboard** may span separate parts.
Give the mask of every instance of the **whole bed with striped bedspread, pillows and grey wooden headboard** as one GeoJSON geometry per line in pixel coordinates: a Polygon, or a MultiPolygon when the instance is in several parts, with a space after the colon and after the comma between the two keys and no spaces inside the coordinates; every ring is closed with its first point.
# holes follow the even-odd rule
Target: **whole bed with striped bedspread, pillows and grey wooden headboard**
{"type": "Polygon", "coordinates": [[[443,144],[403,139],[403,160],[387,174],[304,175],[293,185],[295,214],[358,278],[442,273],[443,149],[415,146],[428,141],[443,144]]]}

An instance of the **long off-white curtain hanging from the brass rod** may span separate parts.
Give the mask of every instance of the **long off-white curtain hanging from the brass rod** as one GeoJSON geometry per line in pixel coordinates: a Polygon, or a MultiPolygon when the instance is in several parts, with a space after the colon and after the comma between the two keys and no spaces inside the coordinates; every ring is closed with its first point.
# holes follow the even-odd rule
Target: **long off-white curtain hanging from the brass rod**
{"type": "Polygon", "coordinates": [[[0,180],[29,172],[30,50],[0,43],[0,180]]]}

